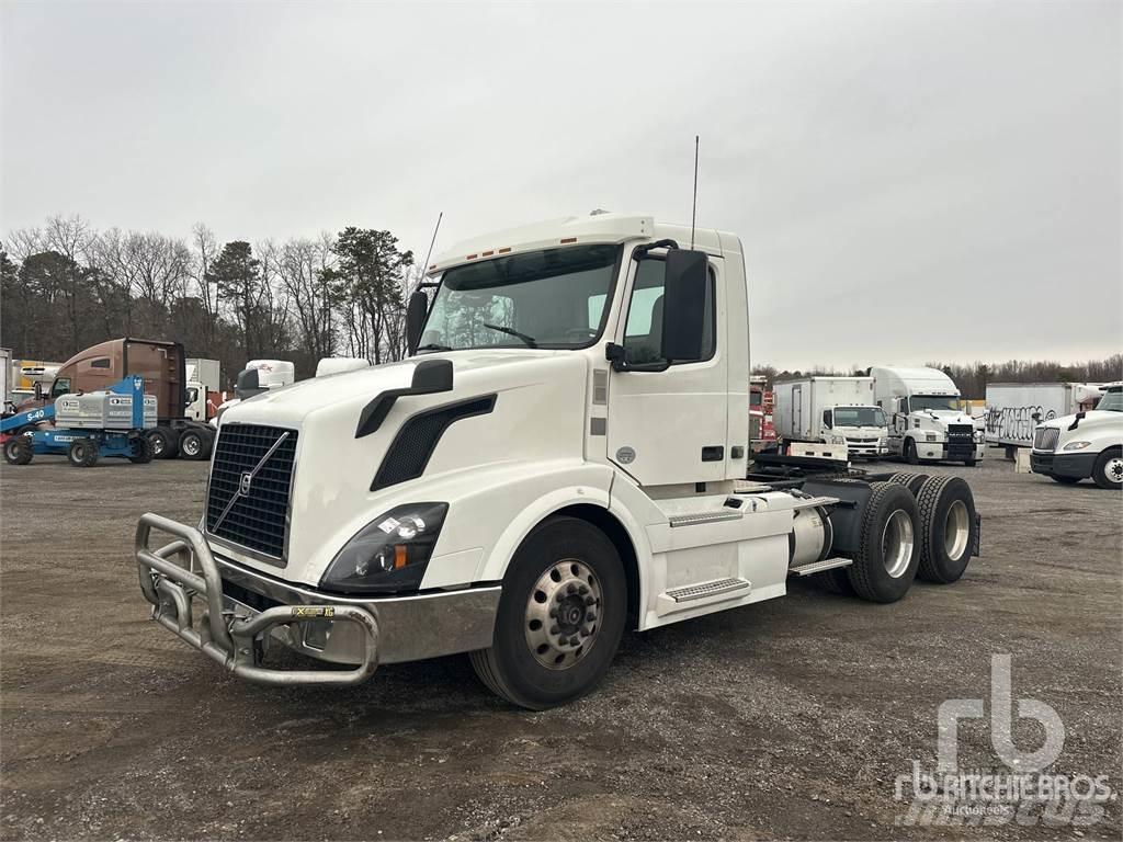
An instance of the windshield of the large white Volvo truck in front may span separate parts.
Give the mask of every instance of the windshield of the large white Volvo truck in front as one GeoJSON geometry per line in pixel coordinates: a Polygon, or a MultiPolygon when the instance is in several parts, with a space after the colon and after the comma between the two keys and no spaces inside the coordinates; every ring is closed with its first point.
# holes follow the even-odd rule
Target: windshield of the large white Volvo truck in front
{"type": "Polygon", "coordinates": [[[499,257],[445,273],[418,350],[585,348],[601,335],[618,246],[499,257]]]}

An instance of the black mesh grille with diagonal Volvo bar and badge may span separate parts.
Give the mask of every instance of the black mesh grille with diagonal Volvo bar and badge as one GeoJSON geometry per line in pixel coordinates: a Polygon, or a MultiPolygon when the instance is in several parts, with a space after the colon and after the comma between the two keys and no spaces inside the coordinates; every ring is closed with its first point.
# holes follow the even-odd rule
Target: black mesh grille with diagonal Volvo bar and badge
{"type": "Polygon", "coordinates": [[[217,538],[225,538],[247,549],[281,559],[284,556],[289,494],[295,457],[295,430],[256,424],[223,424],[219,430],[211,463],[207,531],[217,538]],[[284,440],[263,463],[262,459],[282,437],[284,440]],[[250,474],[253,476],[247,483],[246,477],[250,474]],[[245,489],[247,484],[248,492],[245,489]]]}

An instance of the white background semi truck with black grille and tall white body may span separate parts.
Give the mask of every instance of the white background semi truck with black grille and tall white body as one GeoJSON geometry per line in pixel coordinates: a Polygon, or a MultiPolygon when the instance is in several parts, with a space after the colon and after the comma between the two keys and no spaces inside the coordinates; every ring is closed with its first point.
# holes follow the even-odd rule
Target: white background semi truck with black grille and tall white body
{"type": "Polygon", "coordinates": [[[889,417],[889,451],[910,465],[961,461],[986,450],[982,430],[959,409],[959,388],[938,368],[874,366],[874,399],[889,417]]]}

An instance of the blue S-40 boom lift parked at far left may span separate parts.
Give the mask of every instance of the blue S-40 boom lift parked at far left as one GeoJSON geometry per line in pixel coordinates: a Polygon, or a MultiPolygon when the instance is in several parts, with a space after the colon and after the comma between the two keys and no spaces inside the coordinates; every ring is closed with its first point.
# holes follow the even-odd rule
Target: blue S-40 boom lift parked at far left
{"type": "MultiPolygon", "coordinates": [[[[133,397],[133,419],[128,428],[88,429],[47,427],[21,428],[53,421],[55,405],[42,406],[0,419],[0,446],[9,465],[27,465],[39,454],[66,456],[71,465],[93,467],[102,456],[119,456],[137,464],[152,461],[152,441],[144,434],[144,379],[126,377],[106,392],[133,397]]],[[[92,394],[92,393],[91,393],[92,394]]]]}

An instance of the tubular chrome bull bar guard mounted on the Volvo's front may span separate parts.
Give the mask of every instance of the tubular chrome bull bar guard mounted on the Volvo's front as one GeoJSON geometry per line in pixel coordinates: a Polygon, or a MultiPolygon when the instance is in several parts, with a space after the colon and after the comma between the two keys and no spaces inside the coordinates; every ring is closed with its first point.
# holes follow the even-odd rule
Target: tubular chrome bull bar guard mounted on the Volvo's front
{"type": "Polygon", "coordinates": [[[357,605],[279,605],[262,612],[246,608],[245,613],[226,607],[218,565],[202,533],[192,527],[158,514],[144,514],[137,523],[135,551],[140,591],[152,603],[152,619],[240,678],[270,685],[350,687],[369,678],[378,666],[377,621],[357,605]],[[154,529],[176,540],[153,550],[148,541],[154,529]],[[186,567],[173,560],[184,556],[189,559],[186,567]],[[207,606],[198,624],[192,611],[195,597],[207,606]],[[358,625],[365,640],[363,662],[346,670],[273,669],[259,665],[257,641],[263,634],[277,625],[313,620],[358,625]]]}

